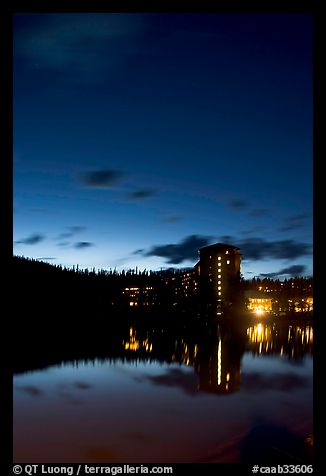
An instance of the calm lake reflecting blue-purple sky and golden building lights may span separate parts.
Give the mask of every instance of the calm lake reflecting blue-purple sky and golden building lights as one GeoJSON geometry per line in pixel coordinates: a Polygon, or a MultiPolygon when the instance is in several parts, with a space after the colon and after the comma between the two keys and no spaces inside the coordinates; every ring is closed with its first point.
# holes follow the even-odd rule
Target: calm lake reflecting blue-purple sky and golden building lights
{"type": "Polygon", "coordinates": [[[312,345],[312,327],[300,324],[208,335],[128,326],[106,355],[15,375],[14,461],[304,458],[312,345]]]}

